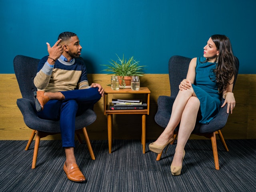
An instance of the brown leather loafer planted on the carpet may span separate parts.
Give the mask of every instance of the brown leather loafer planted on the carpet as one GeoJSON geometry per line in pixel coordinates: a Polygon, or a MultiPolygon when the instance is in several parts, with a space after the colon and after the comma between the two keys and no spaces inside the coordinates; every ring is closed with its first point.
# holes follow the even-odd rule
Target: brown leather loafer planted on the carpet
{"type": "Polygon", "coordinates": [[[66,173],[69,180],[74,182],[84,182],[86,178],[78,168],[77,164],[72,164],[70,170],[68,170],[66,166],[66,162],[64,163],[64,172],[66,173]]]}

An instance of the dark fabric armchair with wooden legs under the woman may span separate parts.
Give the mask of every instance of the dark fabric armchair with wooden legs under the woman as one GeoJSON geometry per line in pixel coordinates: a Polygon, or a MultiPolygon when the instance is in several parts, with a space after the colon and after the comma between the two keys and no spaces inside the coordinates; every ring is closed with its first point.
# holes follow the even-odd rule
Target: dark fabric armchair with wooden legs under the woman
{"type": "MultiPolygon", "coordinates": [[[[239,68],[239,61],[236,59],[236,69],[238,71],[239,68]]],[[[191,61],[191,58],[182,57],[182,56],[172,56],[169,60],[169,80],[170,80],[170,88],[171,88],[171,95],[170,96],[159,96],[158,97],[158,111],[155,115],[155,121],[161,127],[166,127],[172,113],[172,105],[174,100],[179,92],[179,85],[180,82],[186,78],[188,72],[188,66],[191,61]]],[[[235,74],[234,84],[236,82],[237,73],[235,74]]],[[[233,88],[234,88],[233,84],[233,88]]],[[[224,99],[222,98],[222,103],[224,99]]],[[[215,168],[219,170],[219,162],[218,162],[218,151],[217,151],[217,144],[216,144],[216,134],[220,137],[222,144],[224,145],[226,151],[228,151],[228,147],[224,141],[222,133],[220,129],[222,129],[227,122],[228,113],[227,105],[220,109],[218,115],[210,121],[209,124],[200,124],[197,123],[192,134],[202,135],[212,140],[212,150],[214,154],[214,163],[215,168]]],[[[178,127],[175,129],[174,137],[178,135],[178,127]]],[[[173,143],[171,143],[173,144],[173,143]]],[[[161,154],[158,154],[156,160],[160,160],[161,154]]]]}

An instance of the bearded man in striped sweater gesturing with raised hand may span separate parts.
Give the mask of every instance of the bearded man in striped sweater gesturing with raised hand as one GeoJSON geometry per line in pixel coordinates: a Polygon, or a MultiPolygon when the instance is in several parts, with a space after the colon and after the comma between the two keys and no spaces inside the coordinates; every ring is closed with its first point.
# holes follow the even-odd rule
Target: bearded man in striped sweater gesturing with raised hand
{"type": "Polygon", "coordinates": [[[69,180],[86,180],[76,164],[74,156],[75,117],[92,107],[104,94],[98,83],[88,84],[84,62],[78,59],[82,47],[78,36],[72,32],[59,35],[54,46],[47,44],[48,56],[38,64],[34,84],[35,104],[38,117],[60,120],[62,147],[66,162],[64,172],[69,180]]]}

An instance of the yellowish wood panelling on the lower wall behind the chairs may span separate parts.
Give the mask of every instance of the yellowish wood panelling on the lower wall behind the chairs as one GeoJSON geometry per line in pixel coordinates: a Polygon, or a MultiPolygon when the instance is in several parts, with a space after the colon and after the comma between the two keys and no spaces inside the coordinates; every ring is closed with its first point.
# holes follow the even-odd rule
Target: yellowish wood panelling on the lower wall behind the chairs
{"type": "MultiPolygon", "coordinates": [[[[106,87],[110,76],[105,74],[88,74],[89,82],[100,83],[106,87]]],[[[170,95],[168,74],[146,74],[140,78],[142,87],[148,87],[150,94],[150,115],[146,117],[146,139],[156,139],[163,128],[154,121],[159,95],[170,95]],[[156,83],[156,81],[158,83],[156,83]],[[161,82],[161,83],[159,83],[161,82]]],[[[256,139],[256,75],[239,74],[234,95],[236,108],[222,129],[225,139],[256,139]]],[[[114,96],[113,96],[114,97],[114,96]]],[[[28,140],[31,129],[26,127],[22,114],[16,105],[21,98],[14,74],[0,74],[0,140],[28,140]]],[[[91,140],[107,139],[107,118],[103,115],[103,98],[95,105],[96,121],[87,127],[91,140]]],[[[140,139],[140,115],[114,115],[114,139],[140,139]]],[[[44,139],[60,139],[60,135],[44,139]]],[[[204,139],[192,135],[190,139],[204,139]]]]}

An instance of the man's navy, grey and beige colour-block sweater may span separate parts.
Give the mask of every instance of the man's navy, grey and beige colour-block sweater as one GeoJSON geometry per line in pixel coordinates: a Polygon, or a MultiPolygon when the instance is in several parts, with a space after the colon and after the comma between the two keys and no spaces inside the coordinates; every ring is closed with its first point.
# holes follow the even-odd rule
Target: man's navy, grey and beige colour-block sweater
{"type": "Polygon", "coordinates": [[[73,59],[70,63],[58,59],[54,67],[46,63],[48,56],[43,57],[38,64],[38,73],[34,84],[38,91],[58,92],[74,89],[90,88],[84,61],[73,59]]]}

